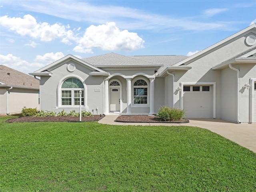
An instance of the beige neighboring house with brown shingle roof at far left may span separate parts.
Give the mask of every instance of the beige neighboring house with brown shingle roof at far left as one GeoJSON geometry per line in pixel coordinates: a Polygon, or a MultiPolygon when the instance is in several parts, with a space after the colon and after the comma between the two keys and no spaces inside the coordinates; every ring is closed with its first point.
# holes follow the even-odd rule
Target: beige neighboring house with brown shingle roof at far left
{"type": "Polygon", "coordinates": [[[39,110],[39,80],[0,65],[0,114],[18,114],[22,108],[39,110]]]}

